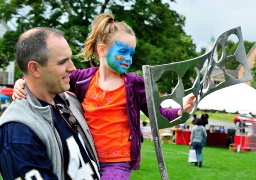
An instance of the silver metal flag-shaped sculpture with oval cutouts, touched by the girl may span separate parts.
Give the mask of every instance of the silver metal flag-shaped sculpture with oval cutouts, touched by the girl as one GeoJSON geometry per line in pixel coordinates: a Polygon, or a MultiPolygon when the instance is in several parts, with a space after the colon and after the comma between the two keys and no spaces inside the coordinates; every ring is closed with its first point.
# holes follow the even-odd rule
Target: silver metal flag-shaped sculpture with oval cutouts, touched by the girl
{"type": "Polygon", "coordinates": [[[240,27],[236,27],[222,33],[214,42],[212,50],[208,51],[206,54],[200,57],[196,57],[183,62],[175,62],[158,66],[145,65],[143,66],[143,74],[145,80],[150,126],[162,180],[168,180],[168,174],[161,149],[159,129],[172,127],[187,121],[187,119],[192,117],[192,115],[195,113],[198,103],[208,94],[213,93],[214,91],[217,91],[221,88],[235,85],[241,82],[250,81],[252,79],[240,27]],[[227,56],[225,51],[225,44],[228,40],[228,37],[232,34],[235,34],[238,37],[239,45],[233,55],[227,56]],[[217,48],[217,45],[222,48],[222,56],[219,60],[213,58],[213,53],[215,48],[217,48]],[[233,59],[240,62],[240,64],[245,69],[244,75],[240,79],[234,79],[226,73],[225,64],[233,59]],[[200,70],[202,70],[205,63],[207,63],[207,68],[204,72],[203,78],[200,79],[200,70]],[[193,86],[190,89],[185,90],[182,83],[182,77],[185,75],[189,67],[194,67],[197,70],[197,77],[193,83],[193,86]],[[210,78],[214,67],[219,67],[221,70],[223,70],[225,77],[224,82],[219,83],[217,86],[214,85],[210,78]],[[176,72],[178,75],[178,83],[171,94],[160,96],[156,82],[160,79],[163,73],[167,71],[176,72]],[[208,87],[203,90],[203,85],[207,77],[208,87]],[[190,93],[193,93],[196,96],[196,102],[192,112],[187,113],[183,109],[182,98],[186,97],[190,93]],[[161,102],[166,99],[172,99],[181,105],[181,116],[171,122],[163,118],[159,112],[161,102]]]}

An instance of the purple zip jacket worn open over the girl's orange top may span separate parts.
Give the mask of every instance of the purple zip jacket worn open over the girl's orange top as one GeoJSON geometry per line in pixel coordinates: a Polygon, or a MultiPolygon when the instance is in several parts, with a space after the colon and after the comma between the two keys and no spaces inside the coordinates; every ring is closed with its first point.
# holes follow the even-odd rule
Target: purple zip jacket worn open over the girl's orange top
{"type": "MultiPolygon", "coordinates": [[[[69,91],[75,93],[80,103],[85,98],[85,93],[91,82],[91,78],[99,67],[91,67],[88,69],[77,69],[70,76],[70,89],[69,91]]],[[[146,103],[146,94],[144,87],[144,79],[142,77],[125,73],[125,88],[126,88],[126,108],[130,127],[130,133],[132,137],[132,150],[131,150],[131,164],[133,170],[139,169],[140,163],[140,149],[142,136],[140,130],[140,110],[148,117],[148,108],[146,103]]],[[[113,82],[114,83],[114,82],[113,82]]],[[[169,120],[173,120],[178,117],[177,109],[165,109],[161,108],[160,112],[169,120]]]]}

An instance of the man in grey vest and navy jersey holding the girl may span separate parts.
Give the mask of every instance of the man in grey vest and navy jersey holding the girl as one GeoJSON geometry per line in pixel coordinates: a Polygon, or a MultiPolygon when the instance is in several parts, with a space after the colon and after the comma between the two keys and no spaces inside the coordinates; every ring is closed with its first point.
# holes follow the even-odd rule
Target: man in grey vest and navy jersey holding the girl
{"type": "Polygon", "coordinates": [[[69,90],[75,71],[63,32],[37,27],[16,43],[25,99],[0,117],[4,180],[99,180],[99,164],[80,102],[69,90]]]}

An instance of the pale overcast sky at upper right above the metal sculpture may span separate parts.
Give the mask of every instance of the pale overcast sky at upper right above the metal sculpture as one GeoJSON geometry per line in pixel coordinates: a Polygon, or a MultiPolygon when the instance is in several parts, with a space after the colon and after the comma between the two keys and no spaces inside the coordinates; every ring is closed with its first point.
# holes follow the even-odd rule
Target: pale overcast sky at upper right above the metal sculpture
{"type": "Polygon", "coordinates": [[[184,30],[192,36],[197,51],[206,46],[212,35],[216,39],[237,26],[241,27],[243,40],[256,41],[255,0],[176,0],[170,6],[186,17],[184,30]]]}

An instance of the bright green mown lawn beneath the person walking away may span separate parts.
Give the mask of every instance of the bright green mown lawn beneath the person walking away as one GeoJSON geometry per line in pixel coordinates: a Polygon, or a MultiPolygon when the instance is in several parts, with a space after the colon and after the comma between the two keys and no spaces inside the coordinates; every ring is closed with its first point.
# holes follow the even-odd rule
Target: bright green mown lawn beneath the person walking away
{"type": "MultiPolygon", "coordinates": [[[[255,180],[256,152],[229,152],[228,147],[203,148],[203,167],[188,163],[188,145],[162,144],[169,180],[255,180]]],[[[154,144],[144,139],[140,169],[130,180],[161,180],[154,144]]]]}

